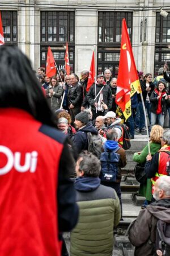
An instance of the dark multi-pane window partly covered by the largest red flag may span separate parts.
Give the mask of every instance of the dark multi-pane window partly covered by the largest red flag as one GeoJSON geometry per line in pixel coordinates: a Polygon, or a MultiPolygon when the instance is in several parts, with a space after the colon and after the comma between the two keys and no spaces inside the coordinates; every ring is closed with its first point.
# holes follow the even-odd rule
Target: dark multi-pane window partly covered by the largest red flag
{"type": "Polygon", "coordinates": [[[120,60],[122,19],[126,19],[130,40],[132,38],[133,13],[105,11],[99,12],[97,73],[110,69],[117,76],[120,60]]]}

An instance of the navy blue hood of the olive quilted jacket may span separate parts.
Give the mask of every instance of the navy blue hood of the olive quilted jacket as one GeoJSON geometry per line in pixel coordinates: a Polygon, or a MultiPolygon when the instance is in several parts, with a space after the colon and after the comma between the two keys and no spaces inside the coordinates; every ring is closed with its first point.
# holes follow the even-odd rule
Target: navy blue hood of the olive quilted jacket
{"type": "Polygon", "coordinates": [[[74,183],[74,187],[78,191],[94,191],[99,185],[99,177],[78,177],[74,183]]]}

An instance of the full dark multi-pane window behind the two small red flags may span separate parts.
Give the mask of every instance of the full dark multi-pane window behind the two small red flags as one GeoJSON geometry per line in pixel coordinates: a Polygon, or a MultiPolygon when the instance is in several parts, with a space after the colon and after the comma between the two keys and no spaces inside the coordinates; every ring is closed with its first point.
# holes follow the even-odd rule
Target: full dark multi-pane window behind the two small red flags
{"type": "Polygon", "coordinates": [[[73,11],[41,11],[40,65],[46,66],[48,46],[51,47],[58,69],[65,66],[65,45],[68,42],[70,72],[74,72],[74,31],[73,11]]]}

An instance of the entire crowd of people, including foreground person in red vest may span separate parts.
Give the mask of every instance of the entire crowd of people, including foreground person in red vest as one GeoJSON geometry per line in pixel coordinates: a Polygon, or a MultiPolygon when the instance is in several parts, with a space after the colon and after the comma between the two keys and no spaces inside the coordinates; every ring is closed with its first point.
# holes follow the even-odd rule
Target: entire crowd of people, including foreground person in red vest
{"type": "MultiPolygon", "coordinates": [[[[38,81],[16,46],[0,47],[0,69],[6,81],[0,85],[0,255],[66,256],[62,234],[71,232],[71,256],[111,256],[113,229],[123,221],[121,168],[130,148],[114,101],[116,79],[106,70],[87,92],[88,71],[80,81],[75,73],[66,76],[63,84],[63,73],[44,82],[39,68],[38,81]]],[[[170,129],[160,125],[169,97],[160,77],[152,88],[151,75],[145,77],[146,108],[157,104],[158,120],[151,112],[151,154],[148,145],[134,154],[145,163],[139,193],[146,203],[128,235],[136,256],[169,255],[170,129]],[[167,240],[157,236],[158,224],[167,240]]],[[[137,100],[139,130],[140,105],[137,100]]],[[[126,123],[132,139],[134,123],[126,123]]]]}

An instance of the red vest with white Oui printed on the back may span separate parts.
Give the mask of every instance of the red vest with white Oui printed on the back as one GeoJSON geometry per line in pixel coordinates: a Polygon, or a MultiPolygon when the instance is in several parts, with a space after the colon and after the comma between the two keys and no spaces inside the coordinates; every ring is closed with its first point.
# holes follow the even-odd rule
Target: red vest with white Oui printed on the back
{"type": "Polygon", "coordinates": [[[49,127],[61,137],[57,141],[41,127],[24,110],[0,109],[1,256],[61,255],[57,182],[63,135],[49,127]]]}

